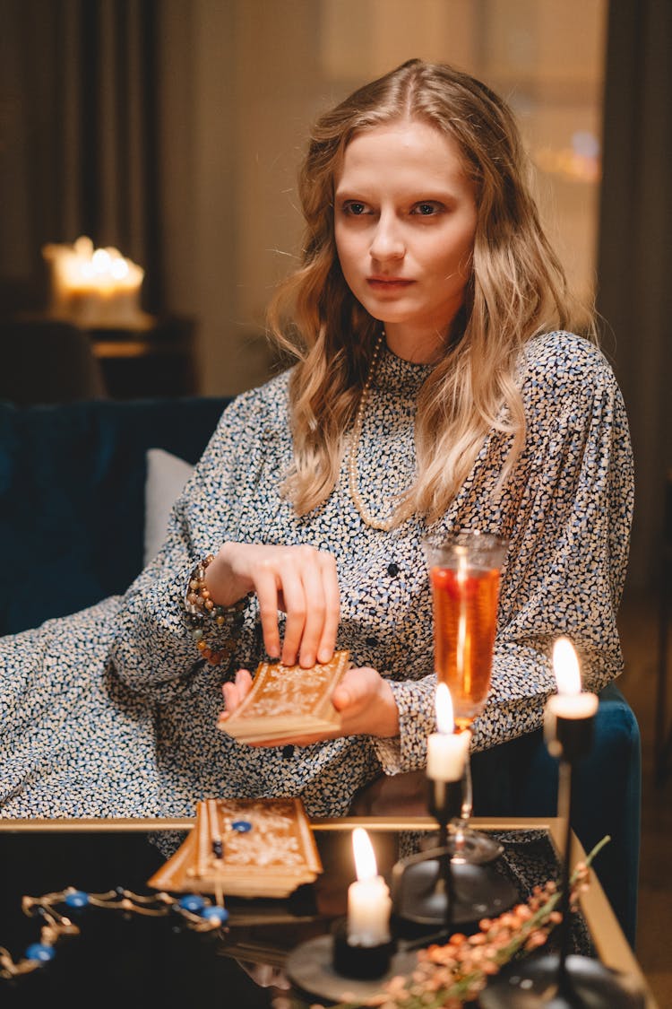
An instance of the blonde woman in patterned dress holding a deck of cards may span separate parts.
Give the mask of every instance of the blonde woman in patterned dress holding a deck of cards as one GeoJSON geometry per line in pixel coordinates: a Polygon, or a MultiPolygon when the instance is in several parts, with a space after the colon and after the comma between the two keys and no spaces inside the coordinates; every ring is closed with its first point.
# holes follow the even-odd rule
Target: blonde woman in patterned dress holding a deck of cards
{"type": "Polygon", "coordinates": [[[411,61],[320,118],[303,261],[271,310],[298,363],[225,412],[123,598],[5,645],[5,815],[189,814],[218,794],[333,815],[381,770],[421,767],[428,533],[510,540],[477,748],[538,726],[558,635],[589,687],[619,674],[627,422],[569,332],[526,173],[506,105],[447,67],[411,61]],[[251,748],[216,728],[222,689],[235,710],[265,653],[307,668],[337,645],[354,662],[338,738],[251,748]]]}

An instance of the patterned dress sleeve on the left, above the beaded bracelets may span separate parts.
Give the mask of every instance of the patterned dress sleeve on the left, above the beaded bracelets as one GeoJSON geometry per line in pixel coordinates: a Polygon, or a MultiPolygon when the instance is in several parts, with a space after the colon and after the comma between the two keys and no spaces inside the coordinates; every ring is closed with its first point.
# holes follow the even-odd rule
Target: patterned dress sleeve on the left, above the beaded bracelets
{"type": "MultiPolygon", "coordinates": [[[[175,691],[198,689],[208,675],[194,647],[184,608],[194,565],[227,540],[251,528],[263,463],[266,408],[259,390],[246,393],[224,412],[191,478],[175,502],[167,539],[126,592],[117,620],[111,660],[131,689],[160,702],[175,691]]],[[[209,643],[221,647],[214,622],[209,643]]]]}

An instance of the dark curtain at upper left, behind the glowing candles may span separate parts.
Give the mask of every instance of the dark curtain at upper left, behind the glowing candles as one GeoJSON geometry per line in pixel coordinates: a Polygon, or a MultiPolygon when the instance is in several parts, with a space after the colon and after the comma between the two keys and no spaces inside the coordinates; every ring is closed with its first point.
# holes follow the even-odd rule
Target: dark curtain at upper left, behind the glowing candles
{"type": "MultiPolygon", "coordinates": [[[[0,275],[89,235],[162,308],[155,0],[0,0],[0,275]]],[[[33,292],[34,296],[34,292],[33,292]]]]}

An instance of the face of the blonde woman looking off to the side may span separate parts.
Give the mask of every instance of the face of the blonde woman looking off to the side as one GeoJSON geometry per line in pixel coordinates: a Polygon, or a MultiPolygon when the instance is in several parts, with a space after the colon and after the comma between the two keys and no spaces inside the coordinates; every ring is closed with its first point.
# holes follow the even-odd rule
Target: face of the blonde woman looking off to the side
{"type": "Polygon", "coordinates": [[[351,291],[385,324],[395,353],[431,360],[472,270],[476,191],[456,143],[418,120],[356,135],[334,179],[333,209],[351,291]]]}

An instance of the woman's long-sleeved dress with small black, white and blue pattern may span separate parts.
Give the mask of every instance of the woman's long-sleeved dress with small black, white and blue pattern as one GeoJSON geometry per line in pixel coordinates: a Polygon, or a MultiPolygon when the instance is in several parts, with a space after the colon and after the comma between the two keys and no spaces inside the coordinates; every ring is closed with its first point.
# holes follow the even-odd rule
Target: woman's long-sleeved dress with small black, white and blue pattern
{"type": "MultiPolygon", "coordinates": [[[[358,455],[360,492],[377,516],[413,477],[415,403],[428,372],[382,352],[358,455]]],[[[573,641],[587,687],[622,670],[616,610],[633,471],[621,394],[601,353],[569,333],[528,344],[520,388],[527,439],[511,478],[498,490],[509,440],[492,431],[431,529],[510,539],[477,749],[540,724],[558,635],[573,641]]],[[[366,526],[346,464],[324,504],[297,518],[279,493],[291,452],[285,373],[225,411],[166,543],[125,596],[0,641],[0,815],[189,815],[195,800],[217,795],[301,795],[309,813],[339,815],[381,770],[423,766],[435,691],[421,546],[429,530],[417,518],[391,532],[366,526]],[[264,654],[252,597],[231,665],[197,657],[185,586],[194,563],[226,540],[307,543],[334,555],[338,646],[389,679],[398,738],[253,749],[216,727],[222,682],[264,654]]]]}

